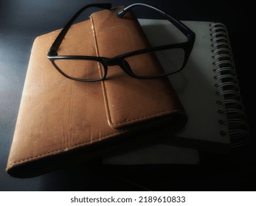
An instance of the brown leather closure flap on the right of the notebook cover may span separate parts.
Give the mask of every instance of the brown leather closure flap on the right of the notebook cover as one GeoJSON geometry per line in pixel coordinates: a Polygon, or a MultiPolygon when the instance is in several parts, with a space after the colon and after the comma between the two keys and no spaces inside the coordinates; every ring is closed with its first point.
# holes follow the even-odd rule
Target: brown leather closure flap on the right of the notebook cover
{"type": "MultiPolygon", "coordinates": [[[[120,8],[91,15],[97,55],[115,57],[149,46],[142,28],[132,13],[117,18],[120,8]],[[104,24],[103,21],[104,19],[104,24]]],[[[139,69],[162,70],[151,54],[133,57],[131,65],[139,69]]],[[[151,72],[150,72],[151,73],[151,72]]],[[[161,73],[161,72],[159,72],[161,73]]],[[[108,80],[102,82],[108,124],[113,128],[128,127],[142,121],[172,115],[181,105],[166,78],[135,79],[125,74],[118,65],[108,67],[108,80]]]]}

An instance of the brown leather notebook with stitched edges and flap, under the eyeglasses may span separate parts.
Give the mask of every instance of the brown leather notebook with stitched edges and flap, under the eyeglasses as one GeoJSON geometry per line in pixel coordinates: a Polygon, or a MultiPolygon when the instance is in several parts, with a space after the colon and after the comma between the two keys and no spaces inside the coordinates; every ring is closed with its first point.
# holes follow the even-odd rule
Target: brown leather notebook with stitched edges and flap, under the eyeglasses
{"type": "MultiPolygon", "coordinates": [[[[73,25],[59,54],[114,57],[149,46],[133,15],[115,13],[103,10],[73,25]]],[[[147,143],[159,138],[158,129],[185,124],[187,116],[165,78],[134,79],[117,66],[108,68],[103,82],[63,77],[47,59],[59,32],[39,36],[32,46],[8,174],[34,177],[117,146],[147,143]]],[[[142,68],[162,69],[152,56],[136,61],[142,68]]]]}

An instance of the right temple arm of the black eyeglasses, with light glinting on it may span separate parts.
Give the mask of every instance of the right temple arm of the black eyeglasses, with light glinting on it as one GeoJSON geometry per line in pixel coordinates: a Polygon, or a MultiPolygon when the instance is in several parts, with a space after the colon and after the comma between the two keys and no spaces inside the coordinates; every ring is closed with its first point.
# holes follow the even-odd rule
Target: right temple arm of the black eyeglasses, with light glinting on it
{"type": "Polygon", "coordinates": [[[136,6],[148,7],[164,15],[174,26],[176,26],[185,36],[187,36],[188,40],[194,39],[196,37],[195,33],[191,29],[189,29],[186,25],[184,25],[181,21],[176,20],[172,16],[167,15],[167,13],[164,13],[162,10],[159,10],[156,7],[152,7],[151,5],[148,5],[148,4],[142,4],[142,3],[131,4],[130,6],[125,7],[124,9],[118,11],[117,16],[121,18],[123,15],[125,15],[125,13],[131,10],[132,7],[136,7],[136,6]]]}

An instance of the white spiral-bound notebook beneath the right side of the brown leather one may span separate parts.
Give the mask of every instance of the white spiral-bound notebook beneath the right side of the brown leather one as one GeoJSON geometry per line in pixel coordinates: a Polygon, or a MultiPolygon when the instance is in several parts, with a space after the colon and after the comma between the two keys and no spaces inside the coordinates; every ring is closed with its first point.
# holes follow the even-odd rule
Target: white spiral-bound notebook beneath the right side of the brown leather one
{"type": "MultiPolygon", "coordinates": [[[[145,31],[153,29],[150,22],[145,21],[152,25],[145,26],[145,31]]],[[[170,76],[188,116],[187,125],[176,137],[212,146],[242,146],[249,141],[249,132],[226,26],[198,21],[184,24],[196,32],[196,42],[186,68],[170,76]]],[[[170,29],[172,39],[179,40],[173,31],[170,29]]],[[[152,34],[148,38],[153,42],[152,34]]]]}

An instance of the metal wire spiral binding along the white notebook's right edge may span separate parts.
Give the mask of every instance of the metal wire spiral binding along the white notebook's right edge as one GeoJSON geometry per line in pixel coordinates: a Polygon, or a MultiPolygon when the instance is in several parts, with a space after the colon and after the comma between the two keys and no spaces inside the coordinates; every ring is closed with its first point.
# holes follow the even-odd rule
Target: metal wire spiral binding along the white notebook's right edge
{"type": "Polygon", "coordinates": [[[225,117],[218,123],[228,127],[226,131],[221,130],[220,134],[229,135],[232,147],[242,146],[249,141],[248,124],[226,26],[221,23],[210,24],[210,35],[215,87],[218,90],[216,103],[223,108],[218,113],[225,117]]]}

